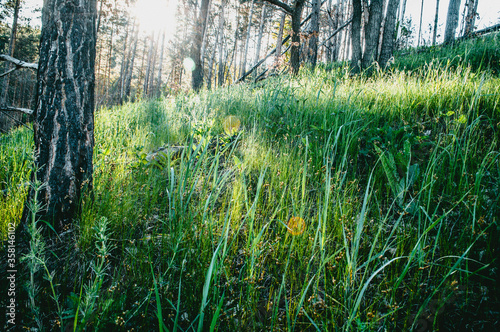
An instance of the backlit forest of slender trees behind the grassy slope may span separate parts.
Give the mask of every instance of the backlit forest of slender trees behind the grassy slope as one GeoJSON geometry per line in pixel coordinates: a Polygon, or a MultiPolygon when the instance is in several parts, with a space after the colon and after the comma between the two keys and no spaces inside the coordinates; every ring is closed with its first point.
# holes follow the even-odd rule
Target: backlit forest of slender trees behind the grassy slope
{"type": "MultiPolygon", "coordinates": [[[[460,35],[474,31],[478,1],[448,1],[445,42],[452,42],[457,30],[460,35]]],[[[394,49],[408,47],[415,38],[407,0],[180,0],[175,31],[147,34],[134,16],[135,2],[97,1],[97,107],[255,80],[287,68],[297,73],[303,65],[349,61],[353,72],[370,70],[375,63],[384,68],[394,49]],[[192,73],[187,58],[194,62],[192,73]]],[[[36,62],[40,31],[19,16],[24,4],[0,1],[0,54],[36,62]]],[[[424,5],[421,0],[422,10],[424,5]]],[[[436,1],[432,44],[443,5],[446,1],[436,1]]],[[[417,45],[422,44],[421,31],[422,20],[417,45]]],[[[1,73],[11,66],[3,63],[1,73]]],[[[34,107],[33,71],[13,71],[0,80],[1,106],[34,107]]],[[[4,113],[3,131],[22,118],[4,113]]]]}

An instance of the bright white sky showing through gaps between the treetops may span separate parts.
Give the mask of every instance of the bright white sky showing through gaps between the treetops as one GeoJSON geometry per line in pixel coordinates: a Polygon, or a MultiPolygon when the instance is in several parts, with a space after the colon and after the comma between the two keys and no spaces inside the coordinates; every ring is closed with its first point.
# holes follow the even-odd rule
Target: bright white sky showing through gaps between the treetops
{"type": "MultiPolygon", "coordinates": [[[[403,0],[401,0],[403,1],[403,0]]],[[[138,19],[141,21],[142,29],[151,31],[154,28],[164,27],[167,31],[173,33],[175,27],[175,14],[177,0],[138,0],[139,4],[135,10],[138,19]]],[[[461,13],[463,13],[462,0],[461,13]]],[[[407,0],[406,17],[411,17],[415,28],[415,40],[418,35],[418,24],[420,21],[420,6],[421,0],[407,0]]],[[[448,0],[440,1],[439,8],[439,27],[438,33],[443,38],[444,26],[446,22],[446,13],[448,11],[448,0]]],[[[21,16],[33,17],[32,22],[40,24],[40,11],[33,13],[36,8],[41,8],[43,0],[25,0],[21,16]]],[[[424,15],[422,20],[422,35],[423,38],[430,40],[429,24],[434,22],[434,14],[436,10],[436,0],[424,0],[424,15]]],[[[497,23],[500,23],[500,0],[479,0],[478,9],[479,18],[476,20],[478,29],[482,29],[497,23]]],[[[168,32],[167,32],[168,35],[168,32]]],[[[168,37],[171,37],[168,36],[168,37]]],[[[439,41],[439,39],[438,39],[439,41]]]]}

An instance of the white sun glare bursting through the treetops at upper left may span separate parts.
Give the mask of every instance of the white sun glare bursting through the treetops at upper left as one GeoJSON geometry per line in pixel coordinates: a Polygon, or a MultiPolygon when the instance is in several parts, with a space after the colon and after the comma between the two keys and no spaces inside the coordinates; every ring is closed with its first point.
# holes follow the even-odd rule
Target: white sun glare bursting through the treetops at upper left
{"type": "Polygon", "coordinates": [[[137,0],[131,14],[142,31],[150,34],[164,30],[168,41],[175,34],[177,4],[177,0],[137,0]]]}

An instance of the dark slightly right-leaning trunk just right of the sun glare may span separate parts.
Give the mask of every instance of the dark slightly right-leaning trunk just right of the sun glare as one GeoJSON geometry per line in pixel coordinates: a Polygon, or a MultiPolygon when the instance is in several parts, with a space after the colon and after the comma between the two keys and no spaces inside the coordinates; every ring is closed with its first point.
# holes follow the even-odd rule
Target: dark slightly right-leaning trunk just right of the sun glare
{"type": "Polygon", "coordinates": [[[193,44],[191,47],[191,57],[194,61],[195,68],[192,73],[191,86],[193,90],[198,91],[203,86],[203,59],[201,48],[208,15],[208,5],[210,0],[201,0],[200,13],[196,19],[193,44]]]}

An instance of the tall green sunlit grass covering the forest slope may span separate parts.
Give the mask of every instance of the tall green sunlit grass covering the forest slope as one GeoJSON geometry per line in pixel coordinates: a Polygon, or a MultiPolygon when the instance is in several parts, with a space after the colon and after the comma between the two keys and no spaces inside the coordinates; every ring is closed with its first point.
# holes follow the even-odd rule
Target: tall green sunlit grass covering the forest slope
{"type": "MultiPolygon", "coordinates": [[[[71,250],[43,256],[50,283],[33,270],[37,318],[20,324],[494,329],[499,102],[494,72],[436,62],[101,109],[94,199],[71,250]],[[184,148],[151,158],[166,145],[184,148]]],[[[30,134],[1,138],[2,230],[22,212],[30,134]]]]}

